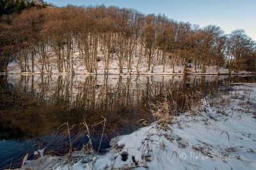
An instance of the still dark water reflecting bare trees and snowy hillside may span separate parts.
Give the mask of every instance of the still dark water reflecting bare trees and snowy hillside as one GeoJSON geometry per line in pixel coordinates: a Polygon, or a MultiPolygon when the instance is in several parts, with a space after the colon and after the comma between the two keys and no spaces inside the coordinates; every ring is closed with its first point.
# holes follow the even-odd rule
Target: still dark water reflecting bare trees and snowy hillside
{"type": "Polygon", "coordinates": [[[149,104],[161,100],[166,89],[177,93],[182,112],[186,107],[179,92],[214,96],[219,86],[255,80],[227,75],[0,75],[0,169],[19,167],[27,153],[33,158],[42,148],[45,154],[67,153],[68,128],[72,150],[81,149],[88,143],[84,122],[93,148],[104,152],[111,138],[154,121],[149,104]]]}

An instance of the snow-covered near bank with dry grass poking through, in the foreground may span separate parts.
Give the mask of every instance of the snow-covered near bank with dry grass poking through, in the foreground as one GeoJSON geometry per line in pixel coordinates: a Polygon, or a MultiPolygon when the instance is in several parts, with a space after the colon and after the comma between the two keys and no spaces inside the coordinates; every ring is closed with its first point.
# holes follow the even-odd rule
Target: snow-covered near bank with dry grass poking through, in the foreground
{"type": "Polygon", "coordinates": [[[172,125],[116,137],[104,155],[42,156],[23,169],[255,169],[256,84],[233,85],[172,125]]]}

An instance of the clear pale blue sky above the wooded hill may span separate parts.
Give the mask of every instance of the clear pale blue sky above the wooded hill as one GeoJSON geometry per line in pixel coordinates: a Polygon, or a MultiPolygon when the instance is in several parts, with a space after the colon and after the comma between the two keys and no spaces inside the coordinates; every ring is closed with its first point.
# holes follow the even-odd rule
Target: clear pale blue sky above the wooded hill
{"type": "Polygon", "coordinates": [[[244,29],[256,41],[256,0],[45,0],[56,6],[100,5],[134,8],[144,14],[161,13],[169,19],[201,27],[220,26],[225,33],[244,29]]]}

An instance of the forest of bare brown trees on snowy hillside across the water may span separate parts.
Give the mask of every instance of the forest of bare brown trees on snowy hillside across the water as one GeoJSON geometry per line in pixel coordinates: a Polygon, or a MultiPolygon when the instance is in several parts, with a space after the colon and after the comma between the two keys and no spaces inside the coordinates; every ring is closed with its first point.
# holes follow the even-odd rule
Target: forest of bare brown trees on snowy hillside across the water
{"type": "Polygon", "coordinates": [[[116,6],[32,4],[22,12],[1,10],[0,29],[1,72],[8,72],[13,61],[20,72],[29,73],[75,73],[77,63],[87,73],[109,73],[113,60],[118,73],[140,73],[143,62],[150,73],[159,64],[172,73],[177,65],[184,73],[205,73],[207,66],[229,73],[256,69],[256,45],[243,29],[227,35],[219,26],[200,27],[116,6]]]}

